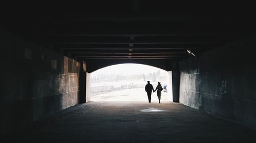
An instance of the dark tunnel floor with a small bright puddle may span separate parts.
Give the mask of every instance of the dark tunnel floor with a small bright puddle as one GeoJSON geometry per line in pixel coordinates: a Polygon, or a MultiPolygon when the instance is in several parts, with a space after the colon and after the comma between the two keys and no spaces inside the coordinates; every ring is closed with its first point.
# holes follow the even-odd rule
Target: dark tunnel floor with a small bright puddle
{"type": "Polygon", "coordinates": [[[62,110],[5,142],[256,142],[256,130],[179,103],[90,102],[62,110]]]}

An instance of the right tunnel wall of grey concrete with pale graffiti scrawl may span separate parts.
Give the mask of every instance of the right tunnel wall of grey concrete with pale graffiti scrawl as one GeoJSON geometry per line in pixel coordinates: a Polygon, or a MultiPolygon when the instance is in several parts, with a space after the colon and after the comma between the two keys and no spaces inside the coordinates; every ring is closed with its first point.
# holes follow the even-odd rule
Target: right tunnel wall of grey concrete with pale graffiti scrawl
{"type": "Polygon", "coordinates": [[[180,102],[256,128],[256,38],[180,62],[180,102]]]}

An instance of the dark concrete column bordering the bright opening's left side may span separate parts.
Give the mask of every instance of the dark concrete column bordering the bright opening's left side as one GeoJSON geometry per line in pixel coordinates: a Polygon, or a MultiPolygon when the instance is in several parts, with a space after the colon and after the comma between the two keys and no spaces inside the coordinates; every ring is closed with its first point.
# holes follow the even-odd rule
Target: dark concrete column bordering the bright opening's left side
{"type": "Polygon", "coordinates": [[[86,63],[81,62],[79,74],[79,103],[86,103],[86,63]]]}

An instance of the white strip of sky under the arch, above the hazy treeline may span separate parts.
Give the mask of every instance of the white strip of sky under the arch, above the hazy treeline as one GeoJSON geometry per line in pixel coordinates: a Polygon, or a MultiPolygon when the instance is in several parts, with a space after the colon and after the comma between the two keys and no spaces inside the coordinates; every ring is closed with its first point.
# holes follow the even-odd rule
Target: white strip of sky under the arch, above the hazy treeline
{"type": "Polygon", "coordinates": [[[133,73],[152,73],[152,72],[167,72],[165,70],[147,66],[142,64],[118,64],[109,67],[105,67],[99,70],[92,72],[93,75],[101,74],[101,73],[123,73],[123,74],[133,74],[133,73]]]}

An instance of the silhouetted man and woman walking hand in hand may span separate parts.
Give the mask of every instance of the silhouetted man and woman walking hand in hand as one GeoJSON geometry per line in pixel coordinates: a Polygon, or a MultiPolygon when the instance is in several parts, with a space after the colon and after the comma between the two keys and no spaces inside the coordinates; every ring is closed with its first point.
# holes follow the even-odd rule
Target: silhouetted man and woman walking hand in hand
{"type": "Polygon", "coordinates": [[[148,103],[151,103],[151,94],[152,94],[152,91],[155,92],[157,90],[157,96],[158,96],[158,100],[159,100],[159,103],[160,103],[160,100],[161,100],[161,92],[163,90],[162,86],[161,86],[161,83],[158,82],[158,85],[156,87],[156,89],[154,90],[153,88],[153,85],[150,84],[150,81],[147,81],[147,84],[145,86],[145,91],[147,93],[147,98],[148,98],[148,103]]]}

